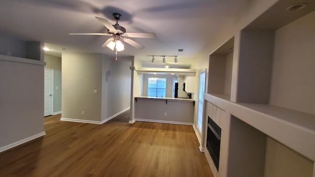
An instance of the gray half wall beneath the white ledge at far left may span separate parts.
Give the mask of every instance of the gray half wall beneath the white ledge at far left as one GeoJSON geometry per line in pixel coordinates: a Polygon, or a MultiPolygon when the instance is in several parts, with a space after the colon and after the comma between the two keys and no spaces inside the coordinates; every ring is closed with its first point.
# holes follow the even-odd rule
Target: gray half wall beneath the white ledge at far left
{"type": "Polygon", "coordinates": [[[44,65],[2,58],[0,148],[44,132],[44,65]]]}

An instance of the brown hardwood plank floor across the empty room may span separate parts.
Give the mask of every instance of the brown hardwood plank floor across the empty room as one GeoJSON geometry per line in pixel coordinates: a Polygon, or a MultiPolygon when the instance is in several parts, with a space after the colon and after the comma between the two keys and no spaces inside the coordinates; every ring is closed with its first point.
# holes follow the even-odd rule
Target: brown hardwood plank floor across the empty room
{"type": "Polygon", "coordinates": [[[44,137],[0,153],[1,177],[213,177],[192,126],[45,117],[44,137]]]}

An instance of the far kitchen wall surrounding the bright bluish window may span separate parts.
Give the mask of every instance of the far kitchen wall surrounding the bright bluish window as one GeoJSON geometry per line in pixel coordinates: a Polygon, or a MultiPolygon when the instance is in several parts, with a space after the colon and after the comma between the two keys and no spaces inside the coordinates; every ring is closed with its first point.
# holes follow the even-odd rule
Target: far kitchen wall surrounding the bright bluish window
{"type": "Polygon", "coordinates": [[[165,96],[166,97],[172,97],[173,79],[177,79],[177,76],[176,75],[170,75],[170,74],[143,74],[142,96],[148,96],[148,78],[154,77],[154,76],[157,76],[159,78],[166,78],[166,94],[165,94],[165,96]]]}

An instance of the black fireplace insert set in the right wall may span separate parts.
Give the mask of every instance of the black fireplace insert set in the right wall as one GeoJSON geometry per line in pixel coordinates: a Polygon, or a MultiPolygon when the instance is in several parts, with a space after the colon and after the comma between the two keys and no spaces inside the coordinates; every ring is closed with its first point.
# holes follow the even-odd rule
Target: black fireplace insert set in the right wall
{"type": "Polygon", "coordinates": [[[207,149],[219,171],[221,128],[208,116],[207,149]]]}

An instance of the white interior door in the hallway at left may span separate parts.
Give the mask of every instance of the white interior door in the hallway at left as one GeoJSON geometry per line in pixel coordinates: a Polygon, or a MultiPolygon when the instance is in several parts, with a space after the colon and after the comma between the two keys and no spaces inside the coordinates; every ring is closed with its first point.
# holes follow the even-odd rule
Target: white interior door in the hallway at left
{"type": "Polygon", "coordinates": [[[53,115],[53,70],[44,71],[44,116],[53,115]]]}

